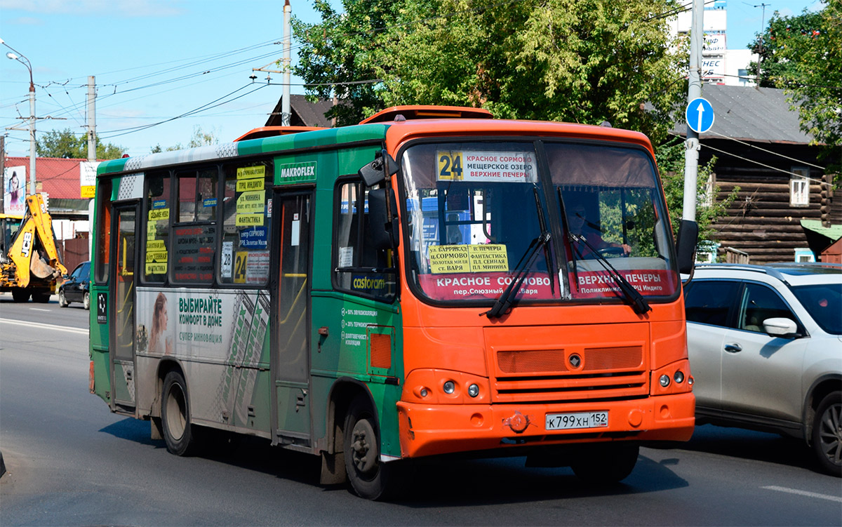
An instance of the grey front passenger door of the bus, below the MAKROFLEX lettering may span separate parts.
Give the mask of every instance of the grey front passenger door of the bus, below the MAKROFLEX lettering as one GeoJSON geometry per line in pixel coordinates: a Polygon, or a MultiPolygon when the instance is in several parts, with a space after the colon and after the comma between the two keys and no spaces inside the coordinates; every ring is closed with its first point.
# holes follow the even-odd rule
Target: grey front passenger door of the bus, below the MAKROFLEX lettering
{"type": "Polygon", "coordinates": [[[272,291],[275,434],[280,444],[309,446],[312,192],[280,192],[273,201],[279,254],[272,291]]]}

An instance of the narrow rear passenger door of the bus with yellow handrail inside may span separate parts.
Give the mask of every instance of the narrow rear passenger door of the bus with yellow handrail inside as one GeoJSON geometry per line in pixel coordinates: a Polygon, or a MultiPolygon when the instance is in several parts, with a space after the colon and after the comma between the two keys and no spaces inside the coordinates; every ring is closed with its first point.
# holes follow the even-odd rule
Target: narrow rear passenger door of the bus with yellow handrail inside
{"type": "Polygon", "coordinates": [[[111,396],[117,413],[135,414],[135,241],[137,205],[115,205],[109,277],[111,301],[111,396]]]}

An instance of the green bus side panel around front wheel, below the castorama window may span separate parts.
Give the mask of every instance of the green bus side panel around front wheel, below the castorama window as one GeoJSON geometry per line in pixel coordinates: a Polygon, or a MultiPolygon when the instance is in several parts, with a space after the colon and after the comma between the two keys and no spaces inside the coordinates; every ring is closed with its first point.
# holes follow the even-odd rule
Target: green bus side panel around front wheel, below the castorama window
{"type": "Polygon", "coordinates": [[[400,455],[396,404],[402,386],[386,384],[403,378],[402,318],[397,303],[390,305],[333,291],[314,291],[312,317],[314,436],[320,438],[326,434],[325,413],[333,381],[350,377],[368,386],[377,406],[382,452],[400,455]],[[318,334],[320,327],[328,327],[327,337],[318,334]],[[368,335],[372,329],[376,333],[392,334],[392,359],[388,369],[370,366],[368,335]]]}

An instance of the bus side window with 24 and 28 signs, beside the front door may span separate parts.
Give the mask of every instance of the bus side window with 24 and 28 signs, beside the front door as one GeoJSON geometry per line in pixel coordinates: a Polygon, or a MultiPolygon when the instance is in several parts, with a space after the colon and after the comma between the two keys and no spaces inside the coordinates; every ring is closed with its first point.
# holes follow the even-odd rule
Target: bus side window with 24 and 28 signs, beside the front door
{"type": "Polygon", "coordinates": [[[225,165],[223,170],[219,281],[222,284],[266,285],[272,210],[267,178],[273,173],[272,162],[232,163],[225,165]]]}

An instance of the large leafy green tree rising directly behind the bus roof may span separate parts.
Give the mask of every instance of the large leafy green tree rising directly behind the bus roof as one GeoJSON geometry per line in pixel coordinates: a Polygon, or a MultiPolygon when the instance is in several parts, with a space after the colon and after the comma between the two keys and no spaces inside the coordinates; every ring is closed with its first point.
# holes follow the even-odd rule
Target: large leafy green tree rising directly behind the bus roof
{"type": "Polygon", "coordinates": [[[296,20],[296,74],[336,93],[338,123],[397,104],[641,130],[659,141],[685,86],[663,13],[673,0],[344,0],[296,20]],[[380,79],[377,83],[343,84],[380,79]],[[647,105],[644,109],[644,105],[647,105]]]}

